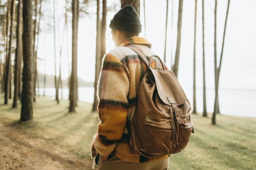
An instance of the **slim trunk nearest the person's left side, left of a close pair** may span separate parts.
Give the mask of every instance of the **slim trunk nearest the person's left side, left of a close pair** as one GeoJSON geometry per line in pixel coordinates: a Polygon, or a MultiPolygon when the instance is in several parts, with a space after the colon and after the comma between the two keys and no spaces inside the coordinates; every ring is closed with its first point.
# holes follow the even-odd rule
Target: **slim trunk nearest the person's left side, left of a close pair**
{"type": "Polygon", "coordinates": [[[98,79],[100,74],[100,16],[99,16],[99,10],[100,10],[100,1],[97,0],[97,19],[96,19],[96,56],[95,56],[95,79],[94,79],[94,103],[93,103],[93,110],[97,110],[98,106],[98,100],[97,100],[97,85],[98,85],[98,79]]]}

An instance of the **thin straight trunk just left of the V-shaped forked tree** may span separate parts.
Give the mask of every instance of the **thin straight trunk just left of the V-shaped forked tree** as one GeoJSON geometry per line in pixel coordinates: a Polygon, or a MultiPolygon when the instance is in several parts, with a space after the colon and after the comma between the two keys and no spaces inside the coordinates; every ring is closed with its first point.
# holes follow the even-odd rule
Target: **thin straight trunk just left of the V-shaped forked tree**
{"type": "Polygon", "coordinates": [[[206,108],[206,83],[205,83],[205,53],[204,53],[204,0],[202,2],[202,21],[203,21],[203,117],[207,116],[206,108]]]}

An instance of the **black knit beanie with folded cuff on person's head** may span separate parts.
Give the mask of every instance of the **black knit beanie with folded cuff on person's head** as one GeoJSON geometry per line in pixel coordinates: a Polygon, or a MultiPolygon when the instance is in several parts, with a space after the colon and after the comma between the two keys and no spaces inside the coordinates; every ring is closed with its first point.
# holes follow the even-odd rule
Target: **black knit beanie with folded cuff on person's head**
{"type": "Polygon", "coordinates": [[[127,5],[115,14],[109,27],[113,30],[141,33],[142,25],[135,9],[127,5]]]}

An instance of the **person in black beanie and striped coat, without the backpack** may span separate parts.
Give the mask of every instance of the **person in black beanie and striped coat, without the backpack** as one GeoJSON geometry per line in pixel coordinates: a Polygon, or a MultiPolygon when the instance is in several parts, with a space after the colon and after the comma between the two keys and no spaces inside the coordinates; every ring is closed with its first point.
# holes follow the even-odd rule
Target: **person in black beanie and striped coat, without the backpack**
{"type": "MultiPolygon", "coordinates": [[[[129,145],[126,128],[127,119],[135,114],[139,87],[147,70],[142,58],[126,46],[138,48],[149,59],[154,54],[151,44],[139,37],[142,25],[130,5],[114,15],[110,28],[116,48],[105,54],[102,61],[97,89],[100,123],[92,143],[92,158],[98,170],[167,170],[170,155],[157,158],[139,155],[129,145]]],[[[151,64],[153,69],[155,63],[156,60],[151,64]]]]}

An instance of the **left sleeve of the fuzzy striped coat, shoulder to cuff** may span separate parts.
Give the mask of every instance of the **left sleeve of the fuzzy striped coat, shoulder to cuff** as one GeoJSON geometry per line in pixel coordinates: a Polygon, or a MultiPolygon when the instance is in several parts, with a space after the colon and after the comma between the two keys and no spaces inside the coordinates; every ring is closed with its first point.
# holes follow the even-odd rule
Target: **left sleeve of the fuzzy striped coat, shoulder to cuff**
{"type": "Polygon", "coordinates": [[[115,149],[116,143],[123,135],[128,114],[129,93],[128,71],[111,54],[106,54],[103,59],[97,89],[100,123],[94,136],[92,150],[107,156],[115,149]]]}

